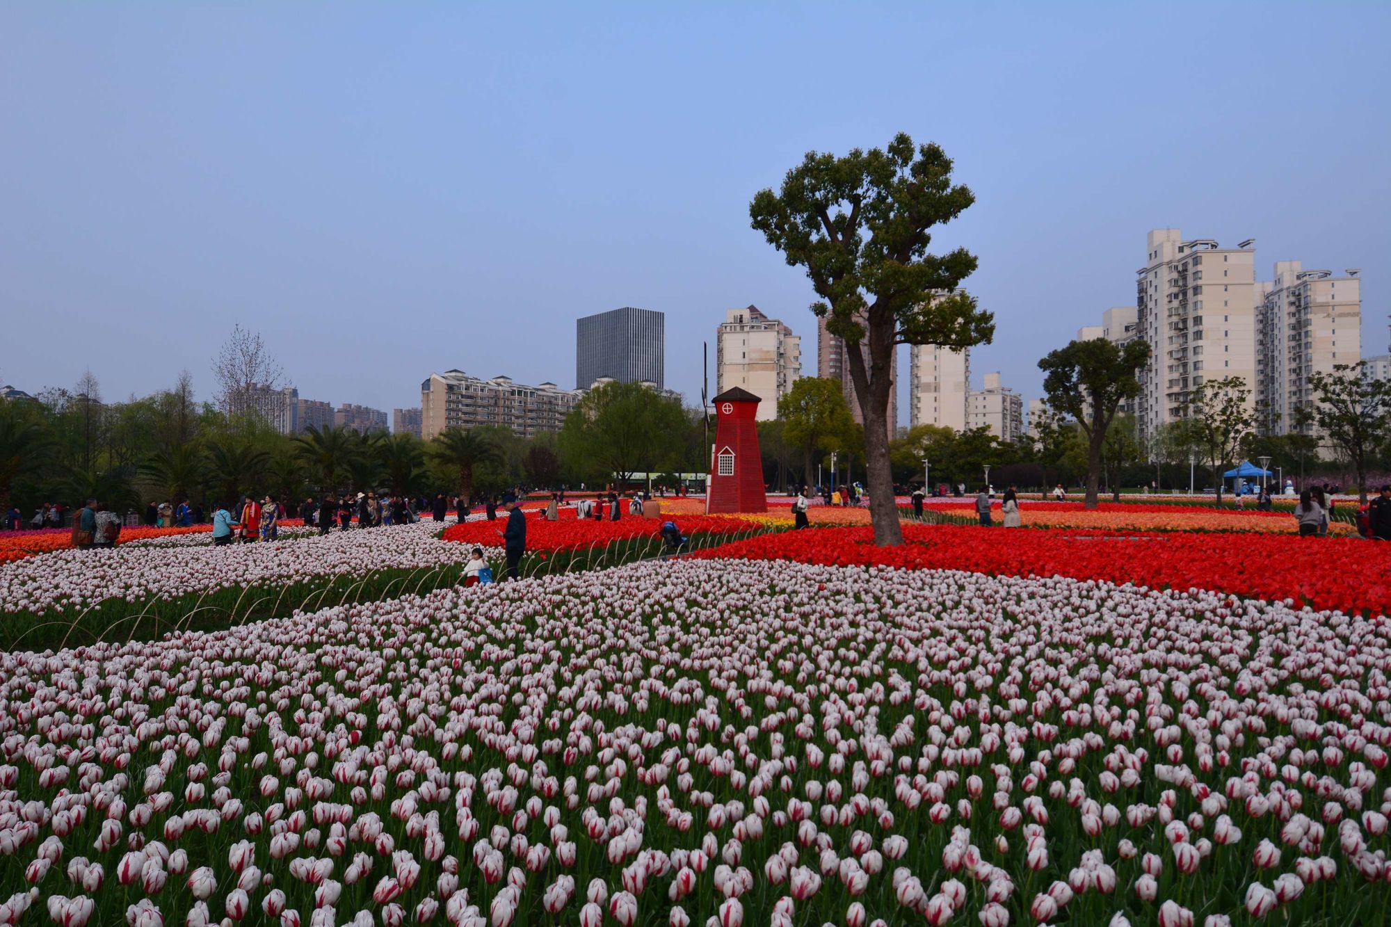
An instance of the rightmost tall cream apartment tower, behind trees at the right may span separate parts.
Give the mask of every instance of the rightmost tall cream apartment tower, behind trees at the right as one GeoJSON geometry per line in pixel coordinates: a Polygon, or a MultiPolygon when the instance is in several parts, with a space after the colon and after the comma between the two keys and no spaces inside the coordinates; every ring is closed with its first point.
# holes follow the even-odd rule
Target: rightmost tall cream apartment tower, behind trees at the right
{"type": "Polygon", "coordinates": [[[1256,380],[1257,415],[1267,434],[1302,431],[1301,408],[1313,404],[1309,374],[1333,373],[1362,359],[1362,280],[1358,270],[1334,277],[1305,270],[1298,260],[1276,262],[1276,278],[1263,284],[1256,380]]]}

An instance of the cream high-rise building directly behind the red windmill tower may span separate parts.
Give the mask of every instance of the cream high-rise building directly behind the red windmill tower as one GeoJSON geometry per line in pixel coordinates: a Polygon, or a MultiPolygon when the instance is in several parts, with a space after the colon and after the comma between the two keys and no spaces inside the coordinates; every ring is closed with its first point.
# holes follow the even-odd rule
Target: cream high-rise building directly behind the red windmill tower
{"type": "Polygon", "coordinates": [[[778,418],[778,401],[801,376],[801,337],[758,306],[729,309],[715,341],[716,393],[740,387],[759,399],[758,420],[778,418]]]}

